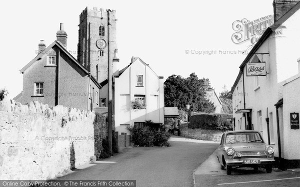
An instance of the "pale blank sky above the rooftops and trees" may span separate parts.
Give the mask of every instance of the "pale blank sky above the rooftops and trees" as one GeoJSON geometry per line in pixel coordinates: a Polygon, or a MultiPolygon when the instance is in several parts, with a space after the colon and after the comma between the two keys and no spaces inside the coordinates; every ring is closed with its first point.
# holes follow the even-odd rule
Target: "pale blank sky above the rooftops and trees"
{"type": "Polygon", "coordinates": [[[60,22],[67,32],[67,49],[76,51],[79,14],[88,6],[116,10],[120,68],[138,56],[164,79],[194,72],[208,78],[218,93],[224,85],[232,87],[246,57],[241,51],[251,45],[232,42],[232,23],[273,14],[272,1],[1,1],[0,88],[6,88],[10,98],[22,91],[19,70],[36,56],[40,40],[48,46],[56,39],[60,22]]]}

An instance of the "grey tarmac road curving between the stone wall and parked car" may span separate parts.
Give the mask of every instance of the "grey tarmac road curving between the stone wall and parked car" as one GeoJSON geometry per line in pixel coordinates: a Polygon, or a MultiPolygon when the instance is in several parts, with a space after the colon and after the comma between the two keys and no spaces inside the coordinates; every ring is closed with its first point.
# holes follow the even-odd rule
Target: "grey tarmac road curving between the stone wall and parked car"
{"type": "Polygon", "coordinates": [[[75,169],[58,180],[136,180],[137,187],[194,187],[194,170],[218,144],[178,140],[166,148],[126,148],[112,158],[75,169]]]}

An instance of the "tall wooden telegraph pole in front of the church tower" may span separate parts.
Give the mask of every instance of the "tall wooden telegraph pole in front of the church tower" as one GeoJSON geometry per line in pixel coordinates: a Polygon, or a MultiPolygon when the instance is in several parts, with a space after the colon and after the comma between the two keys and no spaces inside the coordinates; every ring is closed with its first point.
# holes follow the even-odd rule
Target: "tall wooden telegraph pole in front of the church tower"
{"type": "Polygon", "coordinates": [[[107,74],[108,74],[108,147],[109,152],[112,154],[112,58],[111,58],[111,10],[107,10],[107,47],[108,47],[108,66],[107,66],[107,74]]]}

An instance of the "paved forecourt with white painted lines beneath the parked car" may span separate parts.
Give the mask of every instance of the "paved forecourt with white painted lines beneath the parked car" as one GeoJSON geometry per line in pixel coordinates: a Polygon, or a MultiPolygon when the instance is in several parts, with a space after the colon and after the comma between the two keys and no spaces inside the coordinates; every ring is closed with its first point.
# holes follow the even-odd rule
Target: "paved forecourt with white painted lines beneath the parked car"
{"type": "Polygon", "coordinates": [[[252,168],[235,168],[228,176],[226,170],[220,169],[216,151],[193,174],[195,187],[291,187],[300,183],[299,169],[273,169],[272,173],[266,173],[263,168],[257,172],[252,168]]]}

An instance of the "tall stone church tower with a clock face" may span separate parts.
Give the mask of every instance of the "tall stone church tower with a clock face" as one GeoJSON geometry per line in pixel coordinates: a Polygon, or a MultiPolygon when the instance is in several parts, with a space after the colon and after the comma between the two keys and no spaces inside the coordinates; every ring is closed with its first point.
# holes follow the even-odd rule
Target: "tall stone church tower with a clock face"
{"type": "Polygon", "coordinates": [[[112,73],[118,71],[115,13],[115,10],[86,7],[79,15],[77,60],[99,83],[107,79],[108,45],[113,61],[112,73]],[[107,11],[111,19],[109,31],[107,11]],[[108,41],[108,34],[110,41],[108,41]]]}

